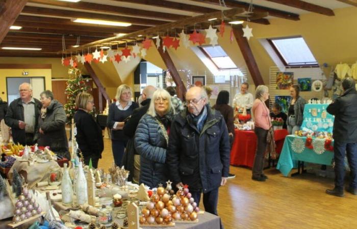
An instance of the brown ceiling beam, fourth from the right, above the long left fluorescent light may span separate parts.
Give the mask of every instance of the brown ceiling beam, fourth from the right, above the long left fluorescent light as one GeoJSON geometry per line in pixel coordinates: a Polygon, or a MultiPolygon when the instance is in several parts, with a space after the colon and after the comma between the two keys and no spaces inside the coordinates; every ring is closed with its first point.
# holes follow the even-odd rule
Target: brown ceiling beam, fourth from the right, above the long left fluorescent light
{"type": "Polygon", "coordinates": [[[61,2],[61,1],[49,2],[48,0],[30,0],[29,3],[65,7],[69,9],[89,10],[89,11],[102,12],[102,13],[115,13],[115,14],[131,16],[131,17],[136,17],[136,16],[147,17],[151,19],[156,18],[156,19],[164,19],[164,20],[180,20],[183,18],[187,18],[187,16],[178,15],[178,14],[169,14],[169,13],[155,12],[155,11],[148,11],[148,10],[138,10],[133,8],[110,6],[105,4],[96,4],[96,3],[88,3],[88,2],[69,3],[69,2],[61,2]]]}

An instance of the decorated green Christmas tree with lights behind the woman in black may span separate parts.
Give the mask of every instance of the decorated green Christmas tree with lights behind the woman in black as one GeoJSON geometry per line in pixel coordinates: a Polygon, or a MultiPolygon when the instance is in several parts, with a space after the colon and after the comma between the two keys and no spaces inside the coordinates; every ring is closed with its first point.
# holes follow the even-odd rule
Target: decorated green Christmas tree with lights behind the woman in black
{"type": "Polygon", "coordinates": [[[81,71],[77,68],[68,69],[69,79],[67,81],[67,87],[65,94],[67,96],[67,103],[64,104],[64,110],[68,120],[73,118],[75,113],[75,97],[81,92],[88,91],[88,87],[82,78],[81,71]]]}

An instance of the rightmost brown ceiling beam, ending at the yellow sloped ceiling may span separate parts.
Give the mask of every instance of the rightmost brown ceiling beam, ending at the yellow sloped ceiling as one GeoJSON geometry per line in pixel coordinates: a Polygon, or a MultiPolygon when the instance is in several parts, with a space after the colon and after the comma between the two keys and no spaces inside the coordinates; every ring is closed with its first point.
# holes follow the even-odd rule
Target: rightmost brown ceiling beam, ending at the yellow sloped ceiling
{"type": "Polygon", "coordinates": [[[266,0],[266,1],[272,2],[272,3],[277,3],[277,4],[282,4],[285,6],[290,6],[290,7],[294,7],[297,9],[306,10],[306,11],[310,11],[310,12],[314,12],[314,13],[318,13],[318,14],[323,14],[326,16],[335,16],[334,11],[329,8],[318,6],[318,5],[315,5],[312,3],[307,3],[304,1],[300,1],[300,0],[266,0]]]}

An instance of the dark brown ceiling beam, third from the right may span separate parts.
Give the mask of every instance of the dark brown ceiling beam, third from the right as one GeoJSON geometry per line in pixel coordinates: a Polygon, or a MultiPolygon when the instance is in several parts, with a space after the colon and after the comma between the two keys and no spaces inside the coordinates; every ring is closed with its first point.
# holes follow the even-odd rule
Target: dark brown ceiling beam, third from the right
{"type": "Polygon", "coordinates": [[[189,12],[195,12],[195,13],[201,13],[201,14],[212,13],[212,12],[217,11],[212,8],[206,8],[206,7],[201,7],[201,6],[176,3],[176,2],[170,2],[170,1],[164,1],[164,0],[161,0],[161,1],[157,1],[157,0],[114,0],[114,1],[115,2],[124,2],[124,3],[136,3],[136,4],[141,4],[141,5],[150,5],[150,6],[156,6],[156,7],[168,8],[168,9],[174,9],[174,10],[183,10],[183,11],[189,11],[189,12]]]}

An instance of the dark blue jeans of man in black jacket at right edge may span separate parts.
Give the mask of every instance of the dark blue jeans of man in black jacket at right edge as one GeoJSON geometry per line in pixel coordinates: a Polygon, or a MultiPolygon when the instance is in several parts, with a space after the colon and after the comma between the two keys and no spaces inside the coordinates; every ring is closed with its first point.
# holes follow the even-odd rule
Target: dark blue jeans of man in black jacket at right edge
{"type": "Polygon", "coordinates": [[[347,159],[350,172],[350,188],[357,188],[357,143],[334,142],[335,152],[335,187],[343,190],[345,179],[344,159],[347,152],[347,159]]]}

